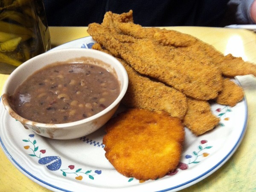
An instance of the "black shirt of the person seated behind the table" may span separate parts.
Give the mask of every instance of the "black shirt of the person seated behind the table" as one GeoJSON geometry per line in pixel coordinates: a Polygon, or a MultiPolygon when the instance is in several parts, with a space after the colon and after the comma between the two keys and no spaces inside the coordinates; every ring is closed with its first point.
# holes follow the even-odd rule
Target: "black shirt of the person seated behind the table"
{"type": "Polygon", "coordinates": [[[142,26],[219,26],[228,0],[44,0],[49,26],[102,23],[106,11],[133,10],[142,26]]]}

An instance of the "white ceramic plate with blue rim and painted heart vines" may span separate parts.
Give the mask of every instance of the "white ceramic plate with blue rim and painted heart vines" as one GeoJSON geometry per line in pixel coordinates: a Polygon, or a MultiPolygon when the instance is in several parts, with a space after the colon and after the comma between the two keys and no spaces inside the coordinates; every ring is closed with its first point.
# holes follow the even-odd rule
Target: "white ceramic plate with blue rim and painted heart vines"
{"type": "MultiPolygon", "coordinates": [[[[54,49],[90,48],[91,37],[54,49]]],[[[75,140],[52,140],[36,135],[12,118],[0,102],[0,142],[9,160],[36,183],[53,191],[177,191],[206,178],[236,151],[247,124],[247,103],[235,107],[212,103],[219,125],[196,137],[186,129],[180,165],[155,181],[127,178],[105,158],[104,128],[75,140]]],[[[152,170],[154,171],[154,170],[152,170]]]]}

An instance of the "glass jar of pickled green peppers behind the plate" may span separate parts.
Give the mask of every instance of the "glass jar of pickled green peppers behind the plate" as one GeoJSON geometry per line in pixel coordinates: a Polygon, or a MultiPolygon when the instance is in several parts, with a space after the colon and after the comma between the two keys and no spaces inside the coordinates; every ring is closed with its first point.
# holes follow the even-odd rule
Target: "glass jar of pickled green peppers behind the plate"
{"type": "Polygon", "coordinates": [[[50,49],[43,0],[0,0],[0,73],[50,49]]]}

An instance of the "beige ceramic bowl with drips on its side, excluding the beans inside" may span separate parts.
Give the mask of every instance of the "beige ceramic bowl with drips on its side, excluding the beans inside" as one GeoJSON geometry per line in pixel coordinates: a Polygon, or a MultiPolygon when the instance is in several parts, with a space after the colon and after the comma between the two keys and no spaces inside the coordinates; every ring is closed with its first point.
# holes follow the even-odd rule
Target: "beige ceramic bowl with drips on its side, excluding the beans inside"
{"type": "Polygon", "coordinates": [[[92,49],[61,49],[57,51],[46,52],[26,61],[9,76],[3,87],[3,104],[9,114],[16,120],[20,121],[26,129],[31,129],[38,135],[53,139],[73,139],[88,135],[100,127],[102,127],[116,112],[120,101],[128,87],[128,75],[122,64],[109,54],[99,52],[92,49]],[[107,63],[110,68],[116,73],[120,82],[120,94],[116,100],[103,111],[88,117],[83,120],[61,123],[61,124],[45,124],[37,123],[31,120],[24,119],[17,115],[11,108],[6,95],[12,95],[17,86],[20,85],[33,72],[47,66],[51,63],[67,60],[78,60],[81,57],[91,57],[107,63]]]}

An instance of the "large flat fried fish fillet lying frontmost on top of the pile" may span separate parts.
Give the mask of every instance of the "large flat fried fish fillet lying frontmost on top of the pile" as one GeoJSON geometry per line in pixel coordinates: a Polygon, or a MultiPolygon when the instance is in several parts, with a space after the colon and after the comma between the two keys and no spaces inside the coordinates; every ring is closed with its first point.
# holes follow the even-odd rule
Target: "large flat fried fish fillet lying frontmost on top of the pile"
{"type": "Polygon", "coordinates": [[[188,56],[152,38],[135,38],[91,23],[88,33],[113,55],[120,55],[137,72],[155,78],[190,97],[209,100],[222,90],[222,76],[210,60],[188,56]]]}

